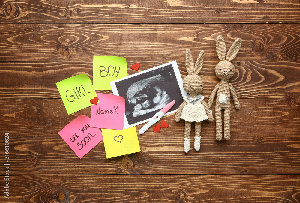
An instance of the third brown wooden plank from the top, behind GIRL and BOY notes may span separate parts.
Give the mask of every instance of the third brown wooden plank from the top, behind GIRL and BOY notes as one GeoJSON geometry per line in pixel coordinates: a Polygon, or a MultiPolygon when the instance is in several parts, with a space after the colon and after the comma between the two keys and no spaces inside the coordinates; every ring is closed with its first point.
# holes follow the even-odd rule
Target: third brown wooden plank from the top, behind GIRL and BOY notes
{"type": "MultiPolygon", "coordinates": [[[[197,55],[194,53],[194,58],[197,55]]],[[[131,65],[138,61],[127,61],[127,74],[137,71],[131,65]]],[[[164,64],[160,62],[140,62],[140,71],[164,64]]],[[[177,61],[182,77],[187,75],[185,61],[177,61]]],[[[205,61],[199,75],[204,80],[202,94],[209,97],[220,79],[214,72],[217,61],[205,61]]],[[[234,62],[235,75],[230,82],[235,87],[238,98],[299,98],[300,61],[239,61],[234,62]]],[[[1,98],[61,98],[56,82],[77,74],[87,74],[93,78],[92,62],[37,62],[0,63],[1,98]]],[[[98,91],[112,93],[111,91],[98,91]]]]}

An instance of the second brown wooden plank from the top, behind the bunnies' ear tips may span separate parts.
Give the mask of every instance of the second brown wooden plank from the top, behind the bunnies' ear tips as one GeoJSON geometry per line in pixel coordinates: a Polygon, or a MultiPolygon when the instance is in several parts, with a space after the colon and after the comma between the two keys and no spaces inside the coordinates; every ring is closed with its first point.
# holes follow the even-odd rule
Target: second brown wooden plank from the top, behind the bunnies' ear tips
{"type": "Polygon", "coordinates": [[[185,49],[205,61],[219,61],[215,39],[227,50],[238,37],[234,61],[299,61],[300,24],[129,24],[1,25],[0,61],[92,61],[93,55],[128,61],[185,61],[185,49]]]}

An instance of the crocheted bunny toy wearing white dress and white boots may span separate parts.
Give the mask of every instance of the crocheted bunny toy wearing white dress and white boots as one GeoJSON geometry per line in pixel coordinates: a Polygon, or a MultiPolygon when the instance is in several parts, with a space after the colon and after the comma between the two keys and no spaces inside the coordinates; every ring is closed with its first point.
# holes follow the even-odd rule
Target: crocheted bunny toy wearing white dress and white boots
{"type": "Polygon", "coordinates": [[[203,100],[204,96],[199,94],[203,89],[203,80],[198,73],[200,72],[204,60],[204,51],[201,51],[194,67],[194,61],[190,49],[185,52],[185,67],[188,75],[183,79],[183,88],[188,93],[184,96],[184,102],[179,106],[175,121],[179,122],[180,118],[185,120],[184,127],[184,152],[190,150],[190,129],[192,122],[195,121],[195,142],[194,148],[196,151],[200,149],[200,133],[201,122],[208,119],[213,121],[211,111],[208,105],[203,100]]]}

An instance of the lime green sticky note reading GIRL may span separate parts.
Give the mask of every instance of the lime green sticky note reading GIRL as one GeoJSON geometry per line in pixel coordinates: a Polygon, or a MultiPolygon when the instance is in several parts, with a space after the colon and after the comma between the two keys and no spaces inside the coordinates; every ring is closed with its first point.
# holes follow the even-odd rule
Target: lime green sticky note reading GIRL
{"type": "Polygon", "coordinates": [[[92,105],[97,97],[90,78],[85,74],[76,75],[56,83],[68,115],[92,105]]]}

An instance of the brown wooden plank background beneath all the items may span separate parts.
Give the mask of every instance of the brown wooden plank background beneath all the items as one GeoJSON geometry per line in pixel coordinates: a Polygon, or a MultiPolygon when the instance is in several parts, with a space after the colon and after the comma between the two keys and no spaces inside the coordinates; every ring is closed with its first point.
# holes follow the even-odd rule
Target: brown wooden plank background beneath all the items
{"type": "Polygon", "coordinates": [[[0,202],[299,203],[299,22],[299,0],[2,0],[0,202]],[[186,154],[184,121],[171,114],[169,128],[139,136],[140,153],[106,159],[101,142],[79,160],[58,135],[91,108],[67,115],[55,83],[92,79],[93,55],[125,57],[128,75],[137,62],[143,71],[177,60],[185,76],[185,49],[194,60],[204,50],[207,102],[220,81],[219,34],[227,50],[243,39],[230,80],[241,102],[232,104],[230,140],[218,142],[205,121],[200,151],[186,154]]]}

